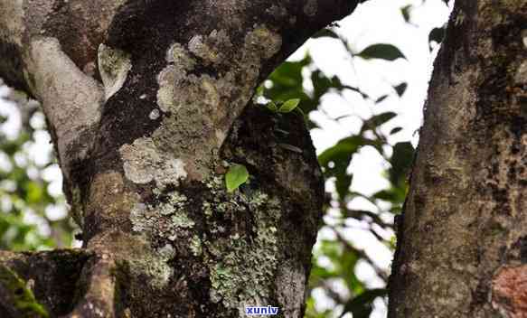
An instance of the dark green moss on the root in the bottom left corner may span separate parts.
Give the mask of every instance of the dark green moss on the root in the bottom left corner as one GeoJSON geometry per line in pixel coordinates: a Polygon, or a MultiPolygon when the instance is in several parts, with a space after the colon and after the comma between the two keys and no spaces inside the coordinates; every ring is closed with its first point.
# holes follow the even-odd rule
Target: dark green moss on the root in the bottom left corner
{"type": "Polygon", "coordinates": [[[33,292],[11,268],[0,265],[0,284],[3,285],[14,301],[14,308],[24,317],[49,317],[42,304],[34,298],[33,292]]]}

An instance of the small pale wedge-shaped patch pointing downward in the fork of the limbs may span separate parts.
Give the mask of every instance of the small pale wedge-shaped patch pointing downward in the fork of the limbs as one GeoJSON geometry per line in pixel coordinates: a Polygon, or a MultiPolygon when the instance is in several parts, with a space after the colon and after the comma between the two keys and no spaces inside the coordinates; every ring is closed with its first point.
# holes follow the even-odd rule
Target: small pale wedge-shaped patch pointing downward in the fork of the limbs
{"type": "Polygon", "coordinates": [[[100,78],[108,100],[123,87],[127,80],[128,71],[132,69],[130,54],[101,43],[98,51],[98,62],[100,78]]]}

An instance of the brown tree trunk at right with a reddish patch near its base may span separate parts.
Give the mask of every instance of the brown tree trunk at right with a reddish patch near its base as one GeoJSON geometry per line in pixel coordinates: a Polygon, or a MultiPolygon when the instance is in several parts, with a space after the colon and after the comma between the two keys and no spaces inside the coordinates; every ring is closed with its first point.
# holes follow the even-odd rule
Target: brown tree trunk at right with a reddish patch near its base
{"type": "Polygon", "coordinates": [[[398,221],[390,317],[527,317],[527,2],[456,1],[398,221]]]}

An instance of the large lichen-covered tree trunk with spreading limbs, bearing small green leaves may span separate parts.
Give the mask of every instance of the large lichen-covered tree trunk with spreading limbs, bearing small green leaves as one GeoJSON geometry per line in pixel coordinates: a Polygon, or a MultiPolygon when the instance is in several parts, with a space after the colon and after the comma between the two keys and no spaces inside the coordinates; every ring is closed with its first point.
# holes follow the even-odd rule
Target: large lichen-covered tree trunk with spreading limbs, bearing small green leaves
{"type": "Polygon", "coordinates": [[[303,118],[250,98],[356,3],[0,0],[0,76],[42,102],[85,244],[2,263],[52,316],[302,316],[322,175],[303,118]]]}

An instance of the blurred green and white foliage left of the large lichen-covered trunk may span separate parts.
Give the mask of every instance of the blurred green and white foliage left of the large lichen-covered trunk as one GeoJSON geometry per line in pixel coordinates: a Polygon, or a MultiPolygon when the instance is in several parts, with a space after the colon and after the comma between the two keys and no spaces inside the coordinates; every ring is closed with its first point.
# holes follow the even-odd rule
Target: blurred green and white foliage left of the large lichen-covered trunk
{"type": "Polygon", "coordinates": [[[36,153],[32,148],[37,136],[47,134],[42,113],[36,103],[20,99],[20,95],[11,94],[0,102],[11,104],[13,97],[20,104],[22,131],[17,135],[5,133],[7,119],[13,121],[16,112],[9,115],[13,117],[0,120],[0,249],[69,247],[74,229],[71,221],[65,216],[53,217],[49,212],[57,207],[64,209],[63,196],[52,194],[52,181],[44,178],[57,170],[56,161],[46,152],[36,153]]]}

